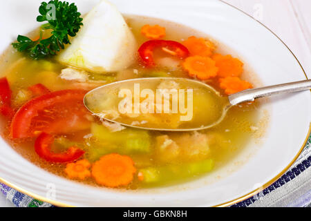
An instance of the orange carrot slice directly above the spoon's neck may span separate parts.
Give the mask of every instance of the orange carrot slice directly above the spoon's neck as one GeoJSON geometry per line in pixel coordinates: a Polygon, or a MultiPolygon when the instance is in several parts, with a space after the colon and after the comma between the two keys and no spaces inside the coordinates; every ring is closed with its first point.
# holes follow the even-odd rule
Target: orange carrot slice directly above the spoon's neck
{"type": "Polygon", "coordinates": [[[253,88],[252,84],[247,81],[243,81],[238,77],[226,77],[220,78],[220,88],[225,89],[227,95],[238,93],[242,90],[253,88]]]}

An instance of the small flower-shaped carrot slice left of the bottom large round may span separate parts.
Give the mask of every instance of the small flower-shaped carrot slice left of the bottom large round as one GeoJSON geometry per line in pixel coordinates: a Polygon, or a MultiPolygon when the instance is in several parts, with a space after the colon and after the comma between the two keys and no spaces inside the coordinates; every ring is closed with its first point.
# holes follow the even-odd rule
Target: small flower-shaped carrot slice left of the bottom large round
{"type": "Polygon", "coordinates": [[[78,178],[79,180],[84,180],[86,177],[91,177],[91,172],[88,170],[90,167],[90,162],[84,159],[67,164],[65,172],[70,179],[78,178]]]}

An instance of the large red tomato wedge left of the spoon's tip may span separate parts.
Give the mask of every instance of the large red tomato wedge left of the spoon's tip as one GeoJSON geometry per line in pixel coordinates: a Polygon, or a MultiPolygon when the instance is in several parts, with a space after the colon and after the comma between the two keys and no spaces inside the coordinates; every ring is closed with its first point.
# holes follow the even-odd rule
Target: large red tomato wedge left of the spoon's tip
{"type": "Polygon", "coordinates": [[[85,94],[85,90],[60,90],[30,100],[13,117],[11,136],[66,134],[88,128],[91,122],[83,104],[85,94]]]}

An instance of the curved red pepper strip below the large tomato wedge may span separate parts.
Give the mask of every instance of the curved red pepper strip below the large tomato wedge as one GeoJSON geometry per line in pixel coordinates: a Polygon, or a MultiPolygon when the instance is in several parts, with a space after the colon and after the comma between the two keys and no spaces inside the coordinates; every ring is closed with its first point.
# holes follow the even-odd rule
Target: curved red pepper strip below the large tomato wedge
{"type": "Polygon", "coordinates": [[[53,135],[41,133],[41,135],[39,135],[35,141],[35,151],[37,155],[48,162],[67,163],[78,160],[79,157],[82,157],[82,155],[85,153],[82,149],[77,148],[76,146],[71,146],[64,153],[53,153],[51,151],[53,142],[53,135]]]}

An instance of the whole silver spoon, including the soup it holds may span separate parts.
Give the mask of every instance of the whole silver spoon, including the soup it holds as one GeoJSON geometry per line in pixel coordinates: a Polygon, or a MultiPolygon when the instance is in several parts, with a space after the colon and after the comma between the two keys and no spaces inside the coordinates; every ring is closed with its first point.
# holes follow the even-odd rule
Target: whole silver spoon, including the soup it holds
{"type": "Polygon", "coordinates": [[[311,88],[311,81],[244,90],[222,97],[211,86],[185,78],[117,81],[86,94],[89,111],[109,122],[154,131],[198,131],[223,121],[229,108],[280,93],[311,88]]]}

